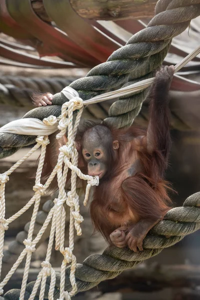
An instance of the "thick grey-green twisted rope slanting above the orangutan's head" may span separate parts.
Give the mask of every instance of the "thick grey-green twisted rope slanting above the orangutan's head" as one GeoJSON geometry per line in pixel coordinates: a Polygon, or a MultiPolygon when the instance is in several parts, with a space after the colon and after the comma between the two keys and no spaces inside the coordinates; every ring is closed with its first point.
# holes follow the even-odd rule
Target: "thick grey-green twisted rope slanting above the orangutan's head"
{"type": "MultiPolygon", "coordinates": [[[[134,34],[125,46],[114,51],[106,62],[91,69],[86,77],[70,84],[83,100],[109,88],[152,77],[169,49],[171,38],[185,30],[190,20],[200,14],[200,0],[159,0],[155,13],[148,26],[134,34]]],[[[110,107],[108,121],[118,127],[130,125],[146,93],[147,89],[144,89],[118,99],[110,107]]],[[[64,101],[62,94],[55,94],[55,105],[32,109],[24,118],[42,120],[49,115],[58,116],[64,101]]],[[[34,140],[29,135],[0,133],[0,157],[9,156],[21,146],[34,143],[34,140]]]]}

